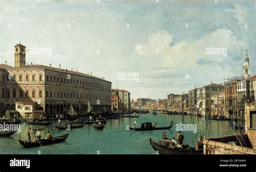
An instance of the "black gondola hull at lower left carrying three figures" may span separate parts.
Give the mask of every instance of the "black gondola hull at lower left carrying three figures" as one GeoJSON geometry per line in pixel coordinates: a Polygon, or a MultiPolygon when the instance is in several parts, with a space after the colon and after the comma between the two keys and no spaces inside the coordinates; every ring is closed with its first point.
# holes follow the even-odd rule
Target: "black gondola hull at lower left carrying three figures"
{"type": "Polygon", "coordinates": [[[50,145],[50,144],[56,144],[58,142],[64,141],[66,140],[66,138],[68,138],[69,133],[65,134],[65,135],[61,135],[58,137],[53,137],[50,139],[42,139],[40,141],[25,141],[25,140],[19,140],[19,143],[24,146],[24,147],[38,147],[38,146],[45,146],[45,145],[50,145]]]}

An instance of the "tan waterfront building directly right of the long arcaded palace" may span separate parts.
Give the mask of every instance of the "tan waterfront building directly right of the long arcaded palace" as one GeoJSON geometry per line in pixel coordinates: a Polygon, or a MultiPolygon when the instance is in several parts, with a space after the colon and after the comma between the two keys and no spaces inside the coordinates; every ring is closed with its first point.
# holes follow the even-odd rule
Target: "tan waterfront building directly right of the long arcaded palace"
{"type": "MultiPolygon", "coordinates": [[[[126,90],[120,90],[120,89],[112,89],[112,95],[114,99],[112,101],[116,101],[118,98],[119,106],[117,108],[118,111],[129,111],[131,110],[131,98],[130,98],[130,92],[126,90]],[[118,95],[118,97],[117,97],[118,95]]],[[[113,102],[112,102],[113,103],[113,102]]]]}

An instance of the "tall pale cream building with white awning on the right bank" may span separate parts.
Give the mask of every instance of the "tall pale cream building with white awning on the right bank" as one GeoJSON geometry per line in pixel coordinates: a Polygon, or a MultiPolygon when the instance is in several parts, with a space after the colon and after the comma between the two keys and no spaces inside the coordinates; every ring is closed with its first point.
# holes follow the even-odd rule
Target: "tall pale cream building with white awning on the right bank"
{"type": "Polygon", "coordinates": [[[210,116],[211,94],[216,91],[221,91],[223,88],[223,85],[214,83],[197,88],[197,114],[210,116]]]}

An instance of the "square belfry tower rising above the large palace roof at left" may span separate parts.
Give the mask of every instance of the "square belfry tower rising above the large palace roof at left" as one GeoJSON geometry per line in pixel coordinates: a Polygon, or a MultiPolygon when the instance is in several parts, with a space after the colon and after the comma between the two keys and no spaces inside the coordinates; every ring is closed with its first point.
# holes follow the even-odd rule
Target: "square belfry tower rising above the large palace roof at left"
{"type": "Polygon", "coordinates": [[[15,67],[24,67],[26,65],[26,47],[19,42],[14,46],[15,49],[15,67]]]}

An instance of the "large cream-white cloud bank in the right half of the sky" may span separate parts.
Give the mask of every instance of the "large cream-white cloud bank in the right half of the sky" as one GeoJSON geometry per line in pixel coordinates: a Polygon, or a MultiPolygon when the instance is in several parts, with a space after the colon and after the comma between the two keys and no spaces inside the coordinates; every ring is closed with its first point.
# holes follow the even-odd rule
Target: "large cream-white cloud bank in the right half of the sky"
{"type": "Polygon", "coordinates": [[[139,55],[153,58],[156,63],[155,66],[185,69],[187,67],[198,67],[200,60],[203,60],[205,64],[221,64],[228,60],[234,60],[235,55],[241,54],[245,49],[244,41],[238,40],[226,28],[218,28],[211,33],[204,34],[198,40],[184,40],[170,46],[172,41],[172,34],[166,31],[158,31],[150,37],[149,42],[136,45],[135,51],[139,55]],[[207,55],[207,47],[226,48],[227,56],[223,54],[207,55]],[[159,54],[156,54],[156,48],[159,49],[159,54]]]}

